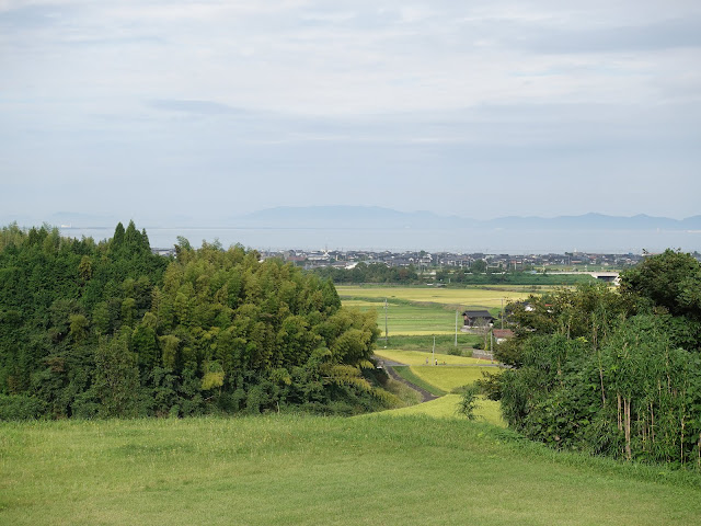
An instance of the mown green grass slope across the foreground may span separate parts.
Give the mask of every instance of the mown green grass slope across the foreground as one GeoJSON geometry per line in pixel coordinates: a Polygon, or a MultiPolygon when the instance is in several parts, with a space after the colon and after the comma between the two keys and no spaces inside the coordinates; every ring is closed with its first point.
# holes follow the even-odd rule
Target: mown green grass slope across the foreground
{"type": "Polygon", "coordinates": [[[697,525],[701,477],[386,414],[0,423],[0,524],[697,525]]]}

